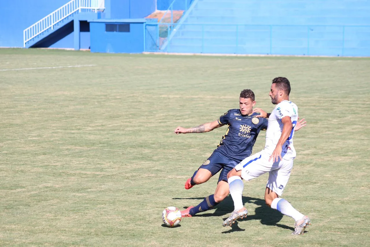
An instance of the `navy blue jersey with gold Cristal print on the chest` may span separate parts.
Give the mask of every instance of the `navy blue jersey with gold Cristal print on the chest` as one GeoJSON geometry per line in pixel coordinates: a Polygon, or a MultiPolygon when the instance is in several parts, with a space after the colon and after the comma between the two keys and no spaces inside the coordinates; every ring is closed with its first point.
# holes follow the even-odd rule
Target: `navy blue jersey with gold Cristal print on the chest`
{"type": "Polygon", "coordinates": [[[229,127],[215,151],[240,160],[251,155],[258,133],[267,129],[268,125],[267,118],[256,118],[256,115],[259,113],[242,116],[239,109],[231,109],[223,114],[218,122],[229,127]]]}

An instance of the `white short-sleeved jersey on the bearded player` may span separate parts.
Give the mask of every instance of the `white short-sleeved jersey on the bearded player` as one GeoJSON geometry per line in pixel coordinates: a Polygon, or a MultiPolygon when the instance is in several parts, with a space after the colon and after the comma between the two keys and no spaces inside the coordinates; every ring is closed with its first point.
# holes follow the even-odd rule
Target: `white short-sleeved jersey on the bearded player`
{"type": "Polygon", "coordinates": [[[294,129],[298,120],[298,107],[291,101],[282,101],[276,105],[275,109],[269,116],[269,123],[266,131],[266,144],[264,151],[269,155],[272,154],[276,148],[276,144],[280,139],[283,131],[283,123],[281,121],[285,116],[289,116],[292,120],[293,129],[290,132],[288,139],[282,146],[281,157],[283,159],[294,159],[296,157],[296,151],[293,146],[294,129]]]}

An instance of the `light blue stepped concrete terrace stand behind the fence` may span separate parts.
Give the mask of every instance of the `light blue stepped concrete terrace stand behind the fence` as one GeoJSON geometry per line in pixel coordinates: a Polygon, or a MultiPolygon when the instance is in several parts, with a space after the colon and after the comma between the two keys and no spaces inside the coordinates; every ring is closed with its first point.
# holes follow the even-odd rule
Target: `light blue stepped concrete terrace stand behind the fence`
{"type": "Polygon", "coordinates": [[[167,24],[159,47],[185,53],[370,56],[369,13],[370,0],[194,0],[177,24],[167,24]]]}

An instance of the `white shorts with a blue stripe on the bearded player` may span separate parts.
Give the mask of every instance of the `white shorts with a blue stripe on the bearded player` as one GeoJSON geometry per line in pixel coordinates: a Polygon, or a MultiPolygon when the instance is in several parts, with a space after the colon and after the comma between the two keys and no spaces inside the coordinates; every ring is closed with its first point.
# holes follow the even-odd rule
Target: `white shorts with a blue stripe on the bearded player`
{"type": "Polygon", "coordinates": [[[236,165],[236,171],[242,170],[242,178],[246,181],[259,177],[269,172],[269,179],[266,187],[282,195],[284,188],[289,180],[290,171],[293,168],[293,159],[282,159],[277,162],[269,161],[270,155],[265,151],[260,151],[248,158],[243,159],[236,165]]]}

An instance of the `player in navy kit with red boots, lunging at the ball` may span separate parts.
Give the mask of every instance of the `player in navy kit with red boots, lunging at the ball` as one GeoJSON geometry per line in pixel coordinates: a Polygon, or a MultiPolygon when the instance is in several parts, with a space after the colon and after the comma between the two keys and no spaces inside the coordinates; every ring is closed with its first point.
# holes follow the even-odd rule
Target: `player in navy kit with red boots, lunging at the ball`
{"type": "MultiPolygon", "coordinates": [[[[228,125],[226,134],[222,136],[218,147],[185,183],[185,189],[188,190],[196,184],[208,181],[209,178],[221,170],[216,191],[214,194],[204,198],[197,206],[188,207],[186,210],[181,211],[182,217],[192,217],[199,212],[207,211],[228,196],[228,172],[252,154],[252,147],[256,142],[258,133],[267,129],[268,119],[257,118],[256,116],[259,113],[252,112],[255,105],[256,101],[253,91],[244,89],[240,93],[239,109],[231,109],[213,122],[204,123],[193,128],[178,126],[175,129],[174,132],[176,134],[203,133],[228,125]]],[[[305,126],[305,122],[302,122],[303,120],[297,123],[296,130],[305,126]]]]}

